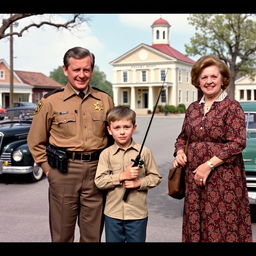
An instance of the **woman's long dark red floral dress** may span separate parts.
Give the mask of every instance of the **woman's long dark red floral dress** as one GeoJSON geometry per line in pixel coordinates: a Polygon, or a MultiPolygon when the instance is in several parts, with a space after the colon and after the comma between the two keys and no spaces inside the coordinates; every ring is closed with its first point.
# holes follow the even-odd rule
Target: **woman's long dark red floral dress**
{"type": "Polygon", "coordinates": [[[183,242],[251,242],[250,206],[242,150],[246,146],[245,115],[226,96],[204,115],[204,103],[192,103],[185,114],[175,152],[189,138],[183,242]],[[211,157],[224,163],[199,187],[193,171],[211,157]]]}

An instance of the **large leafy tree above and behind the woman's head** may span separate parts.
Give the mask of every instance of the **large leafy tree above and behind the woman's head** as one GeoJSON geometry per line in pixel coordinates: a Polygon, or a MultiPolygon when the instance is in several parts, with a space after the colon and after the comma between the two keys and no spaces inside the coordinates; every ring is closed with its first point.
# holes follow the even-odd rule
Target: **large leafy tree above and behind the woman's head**
{"type": "Polygon", "coordinates": [[[228,94],[234,98],[238,75],[256,74],[255,14],[192,14],[189,24],[195,36],[185,45],[188,55],[217,55],[231,71],[228,94]]]}

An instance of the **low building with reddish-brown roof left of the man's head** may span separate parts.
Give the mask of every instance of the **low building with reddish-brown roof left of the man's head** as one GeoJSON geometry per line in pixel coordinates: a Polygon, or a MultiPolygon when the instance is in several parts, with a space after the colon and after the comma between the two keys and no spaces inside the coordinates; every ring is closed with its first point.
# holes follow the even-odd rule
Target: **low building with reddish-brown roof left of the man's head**
{"type": "MultiPolygon", "coordinates": [[[[26,101],[38,103],[41,97],[63,85],[39,72],[14,70],[13,102],[26,101]]],[[[0,105],[9,106],[10,68],[0,59],[0,105]]]]}

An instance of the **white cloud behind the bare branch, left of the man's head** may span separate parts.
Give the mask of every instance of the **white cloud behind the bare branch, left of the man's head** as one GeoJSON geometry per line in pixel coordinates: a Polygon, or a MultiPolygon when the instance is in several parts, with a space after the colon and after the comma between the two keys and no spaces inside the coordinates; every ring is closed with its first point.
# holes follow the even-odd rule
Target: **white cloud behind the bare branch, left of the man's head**
{"type": "MultiPolygon", "coordinates": [[[[55,22],[64,21],[64,17],[59,15],[51,15],[50,18],[55,22]]],[[[19,23],[19,27],[32,21],[38,22],[41,19],[42,17],[39,16],[24,19],[19,23]]],[[[104,48],[104,45],[92,35],[87,23],[81,24],[72,31],[58,30],[50,26],[43,26],[39,29],[32,28],[24,33],[24,36],[14,37],[14,69],[42,72],[49,75],[50,71],[62,66],[65,52],[74,46],[82,46],[92,52],[104,48]]],[[[0,49],[5,49],[5,54],[2,54],[1,50],[0,58],[5,58],[9,63],[8,40],[0,40],[0,49]]]]}

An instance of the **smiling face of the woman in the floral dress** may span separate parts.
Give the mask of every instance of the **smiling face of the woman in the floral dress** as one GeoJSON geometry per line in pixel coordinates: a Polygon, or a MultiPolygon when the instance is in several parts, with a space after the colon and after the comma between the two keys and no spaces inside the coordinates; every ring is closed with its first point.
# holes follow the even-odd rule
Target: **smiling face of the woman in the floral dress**
{"type": "Polygon", "coordinates": [[[217,97],[222,84],[222,75],[215,65],[206,67],[199,76],[199,87],[207,98],[217,97]]]}

